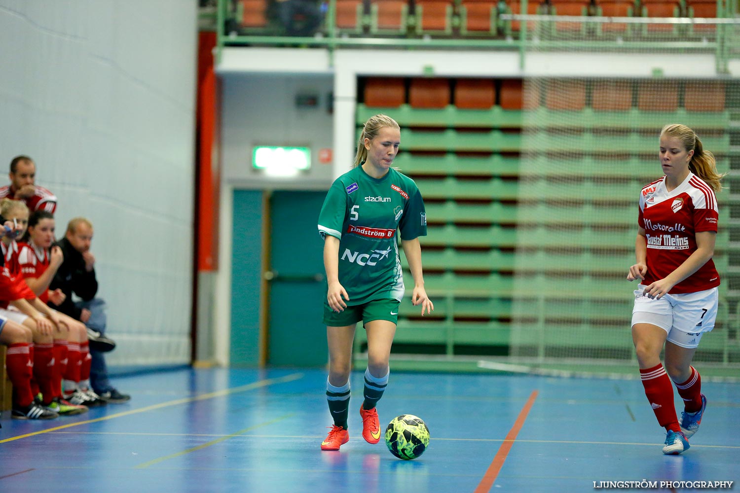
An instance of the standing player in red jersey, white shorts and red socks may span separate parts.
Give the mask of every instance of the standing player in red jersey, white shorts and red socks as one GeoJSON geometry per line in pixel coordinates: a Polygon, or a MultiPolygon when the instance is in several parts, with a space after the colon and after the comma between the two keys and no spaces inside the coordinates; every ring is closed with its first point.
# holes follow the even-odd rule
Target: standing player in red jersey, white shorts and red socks
{"type": "Polygon", "coordinates": [[[714,194],[721,190],[723,175],[713,154],[684,125],[662,129],[659,157],[665,176],[642,188],[637,262],[627,279],[640,280],[634,292],[632,339],[645,395],[667,432],[663,453],[680,454],[689,448],[688,438],[699,429],[707,407],[702,378],[691,360],[717,316],[714,194]],[[660,362],[664,344],[665,367],[660,362]],[[680,421],[671,380],[684,401],[680,421]]]}

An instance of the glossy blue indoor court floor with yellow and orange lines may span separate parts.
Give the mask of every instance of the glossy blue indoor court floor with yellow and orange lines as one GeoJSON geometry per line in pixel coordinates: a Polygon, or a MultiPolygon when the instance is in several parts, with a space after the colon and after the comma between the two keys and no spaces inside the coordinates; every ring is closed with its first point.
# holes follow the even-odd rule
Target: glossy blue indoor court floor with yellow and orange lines
{"type": "Polygon", "coordinates": [[[431,432],[424,455],[403,461],[360,436],[362,378],[352,374],[350,440],[338,452],[319,449],[330,424],[323,370],[150,373],[116,381],[127,404],[45,422],[6,412],[0,492],[593,492],[602,481],[740,480],[740,384],[703,384],[702,428],[683,455],[666,456],[637,380],[391,370],[381,424],[414,414],[431,432]]]}

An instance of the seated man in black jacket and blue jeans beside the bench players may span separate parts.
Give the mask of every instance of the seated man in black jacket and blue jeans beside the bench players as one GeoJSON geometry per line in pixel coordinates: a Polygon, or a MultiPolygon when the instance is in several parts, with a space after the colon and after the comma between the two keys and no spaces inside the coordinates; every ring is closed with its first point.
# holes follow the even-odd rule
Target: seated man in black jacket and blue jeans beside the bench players
{"type": "Polygon", "coordinates": [[[110,384],[103,353],[115,347],[105,333],[105,302],[95,298],[98,293],[98,279],[95,278],[95,256],[90,252],[92,242],[92,223],[84,217],[75,217],[67,225],[64,238],[57,242],[64,254],[64,262],[56,271],[49,289],[61,289],[66,295],[61,305],[49,302],[50,307],[66,313],[87,326],[90,336],[90,385],[92,390],[104,401],[125,402],[130,396],[121,394],[110,384]],[[74,302],[72,294],[82,299],[74,302]]]}

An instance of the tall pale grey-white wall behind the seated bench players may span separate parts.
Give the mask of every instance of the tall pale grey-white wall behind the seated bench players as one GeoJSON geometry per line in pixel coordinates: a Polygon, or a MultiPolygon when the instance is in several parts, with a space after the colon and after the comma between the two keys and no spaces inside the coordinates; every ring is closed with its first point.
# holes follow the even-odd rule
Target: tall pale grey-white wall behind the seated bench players
{"type": "Polygon", "coordinates": [[[110,364],[189,361],[196,7],[0,0],[0,168],[36,160],[58,236],[92,220],[110,364]]]}

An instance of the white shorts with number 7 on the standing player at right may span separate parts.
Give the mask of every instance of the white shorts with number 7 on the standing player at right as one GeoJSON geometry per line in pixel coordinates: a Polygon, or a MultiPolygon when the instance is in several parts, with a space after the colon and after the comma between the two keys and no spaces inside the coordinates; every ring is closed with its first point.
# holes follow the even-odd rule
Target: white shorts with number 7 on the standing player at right
{"type": "Polygon", "coordinates": [[[667,332],[668,341],[687,349],[698,347],[702,334],[714,328],[719,288],[696,293],[666,294],[661,299],[645,296],[645,288],[645,285],[639,285],[634,291],[633,326],[656,325],[667,332]]]}

